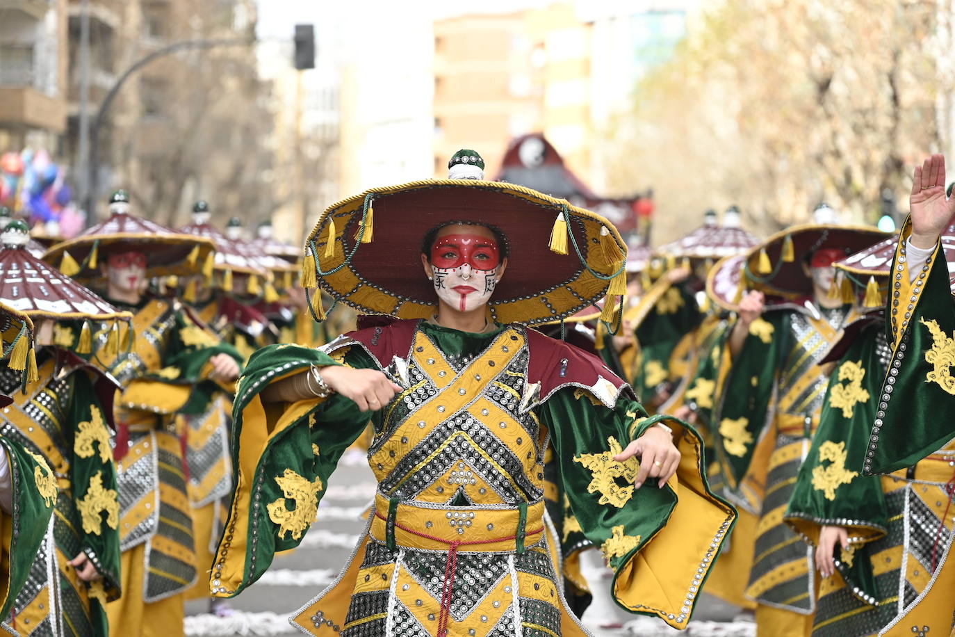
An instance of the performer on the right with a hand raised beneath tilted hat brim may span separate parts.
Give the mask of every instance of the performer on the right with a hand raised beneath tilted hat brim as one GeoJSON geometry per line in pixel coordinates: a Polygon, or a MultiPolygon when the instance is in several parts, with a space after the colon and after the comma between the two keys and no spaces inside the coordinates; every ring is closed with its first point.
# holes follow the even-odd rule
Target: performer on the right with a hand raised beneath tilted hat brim
{"type": "MultiPolygon", "coordinates": [[[[817,219],[831,210],[820,208],[817,219]]],[[[767,634],[812,629],[811,551],[782,514],[828,384],[829,370],[819,362],[855,299],[851,286],[834,285],[832,265],[846,249],[858,251],[881,236],[867,226],[795,226],[753,248],[744,265],[751,291],[739,302],[739,320],[727,338],[723,360],[730,367],[720,372],[727,375],[715,443],[722,478],[736,501],[759,517],[746,594],[758,604],[757,630],[767,634]]]]}

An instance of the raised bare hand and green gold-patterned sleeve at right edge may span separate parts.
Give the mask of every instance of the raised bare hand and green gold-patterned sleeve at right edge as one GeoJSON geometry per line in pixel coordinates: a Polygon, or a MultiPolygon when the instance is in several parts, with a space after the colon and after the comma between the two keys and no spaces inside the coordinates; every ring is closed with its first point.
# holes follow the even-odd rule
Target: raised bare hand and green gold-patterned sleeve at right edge
{"type": "Polygon", "coordinates": [[[955,301],[944,253],[955,241],[943,236],[955,200],[944,190],[945,160],[915,168],[909,218],[902,225],[892,268],[886,327],[892,369],[872,427],[865,474],[915,464],[955,437],[955,301]]]}

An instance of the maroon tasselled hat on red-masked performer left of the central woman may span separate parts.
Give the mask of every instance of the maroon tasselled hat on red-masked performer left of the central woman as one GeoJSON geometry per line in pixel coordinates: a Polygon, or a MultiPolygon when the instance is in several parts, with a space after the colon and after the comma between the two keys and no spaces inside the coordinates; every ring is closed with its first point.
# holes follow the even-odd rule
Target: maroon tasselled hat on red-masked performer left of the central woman
{"type": "Polygon", "coordinates": [[[118,191],[110,200],[110,217],[61,244],[55,244],[43,260],[74,278],[96,278],[99,254],[117,250],[141,252],[148,257],[147,277],[189,275],[202,265],[215,247],[204,237],[167,228],[129,212],[129,197],[118,191]]]}

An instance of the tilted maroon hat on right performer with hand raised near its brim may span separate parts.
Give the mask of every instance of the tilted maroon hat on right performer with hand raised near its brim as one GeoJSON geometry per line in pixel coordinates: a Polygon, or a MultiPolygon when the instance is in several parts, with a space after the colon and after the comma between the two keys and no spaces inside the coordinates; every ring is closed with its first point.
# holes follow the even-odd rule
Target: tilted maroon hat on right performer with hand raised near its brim
{"type": "Polygon", "coordinates": [[[764,292],[767,305],[812,296],[813,283],[803,271],[804,258],[818,249],[844,250],[846,256],[872,245],[886,235],[871,225],[807,223],[775,233],[753,247],[743,265],[744,285],[764,292]]]}

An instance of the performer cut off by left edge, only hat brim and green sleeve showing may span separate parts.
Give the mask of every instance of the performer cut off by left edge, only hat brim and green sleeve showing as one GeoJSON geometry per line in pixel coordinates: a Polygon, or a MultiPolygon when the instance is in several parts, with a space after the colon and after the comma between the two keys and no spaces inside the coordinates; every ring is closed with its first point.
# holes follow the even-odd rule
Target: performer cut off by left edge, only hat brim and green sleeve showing
{"type": "MultiPolygon", "coordinates": [[[[26,314],[0,304],[0,358],[26,382],[33,324],[26,314]],[[17,349],[19,346],[19,349],[17,349]],[[16,355],[13,352],[16,351],[16,355]]],[[[19,387],[17,391],[19,391],[19,387]]],[[[0,409],[13,399],[0,394],[0,409]]],[[[56,475],[43,456],[18,435],[0,431],[0,617],[8,631],[29,627],[11,617],[14,600],[32,575],[33,561],[49,538],[57,500],[56,475]]],[[[16,634],[15,632],[13,634],[16,634]]]]}

